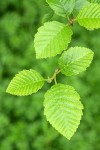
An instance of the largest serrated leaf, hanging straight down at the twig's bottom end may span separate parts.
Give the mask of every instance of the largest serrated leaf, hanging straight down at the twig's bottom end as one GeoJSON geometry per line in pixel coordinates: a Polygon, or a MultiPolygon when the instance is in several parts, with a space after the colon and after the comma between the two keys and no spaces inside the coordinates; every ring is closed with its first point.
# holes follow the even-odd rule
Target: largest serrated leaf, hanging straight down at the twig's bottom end
{"type": "Polygon", "coordinates": [[[77,130],[83,105],[75,89],[57,84],[45,94],[44,114],[52,126],[70,140],[77,130]]]}

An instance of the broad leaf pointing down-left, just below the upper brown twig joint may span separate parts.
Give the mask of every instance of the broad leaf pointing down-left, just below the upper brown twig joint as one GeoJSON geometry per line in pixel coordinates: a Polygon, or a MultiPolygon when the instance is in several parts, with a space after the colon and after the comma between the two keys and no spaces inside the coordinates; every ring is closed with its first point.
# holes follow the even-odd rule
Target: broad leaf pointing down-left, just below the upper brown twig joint
{"type": "Polygon", "coordinates": [[[71,41],[72,30],[57,21],[46,22],[35,35],[34,46],[37,58],[47,58],[60,54],[71,41]]]}

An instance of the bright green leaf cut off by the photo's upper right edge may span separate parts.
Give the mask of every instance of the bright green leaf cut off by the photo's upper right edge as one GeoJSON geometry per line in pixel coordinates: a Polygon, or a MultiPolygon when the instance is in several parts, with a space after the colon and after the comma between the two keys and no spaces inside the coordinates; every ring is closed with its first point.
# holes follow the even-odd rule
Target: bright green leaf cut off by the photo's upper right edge
{"type": "Polygon", "coordinates": [[[76,21],[83,27],[93,30],[100,28],[100,4],[89,4],[83,8],[76,21]]]}

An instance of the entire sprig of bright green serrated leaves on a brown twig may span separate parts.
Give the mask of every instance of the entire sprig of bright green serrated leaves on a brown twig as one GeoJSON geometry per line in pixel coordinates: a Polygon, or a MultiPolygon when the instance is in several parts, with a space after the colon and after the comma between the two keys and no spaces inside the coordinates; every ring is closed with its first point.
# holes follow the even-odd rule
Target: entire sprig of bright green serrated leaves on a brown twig
{"type": "Polygon", "coordinates": [[[38,59],[56,56],[64,51],[59,58],[58,67],[53,76],[47,79],[35,70],[23,70],[7,88],[10,94],[25,96],[37,92],[45,81],[51,83],[54,80],[55,85],[45,94],[44,114],[52,126],[67,139],[74,135],[79,126],[83,105],[75,89],[69,85],[57,84],[56,76],[59,73],[66,76],[77,75],[85,71],[92,62],[93,52],[89,48],[75,46],[65,51],[71,42],[75,22],[88,30],[100,28],[100,5],[97,1],[91,2],[84,1],[78,8],[79,0],[47,0],[54,13],[68,22],[44,23],[35,35],[34,47],[38,59]],[[73,17],[70,19],[71,15],[73,17]]]}

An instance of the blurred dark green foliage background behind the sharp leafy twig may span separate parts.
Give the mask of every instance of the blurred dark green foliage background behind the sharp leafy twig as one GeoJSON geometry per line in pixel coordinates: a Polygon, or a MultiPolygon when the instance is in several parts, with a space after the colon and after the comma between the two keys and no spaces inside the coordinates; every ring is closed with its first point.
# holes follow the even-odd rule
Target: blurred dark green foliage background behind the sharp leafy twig
{"type": "Polygon", "coordinates": [[[44,93],[51,85],[45,84],[28,97],[5,93],[19,71],[32,68],[47,78],[57,67],[59,56],[42,60],[35,57],[34,34],[46,12],[45,0],[0,0],[0,150],[100,150],[100,30],[91,32],[74,25],[69,47],[91,48],[94,60],[79,76],[57,78],[73,85],[84,105],[81,124],[70,141],[43,115],[44,93]]]}

